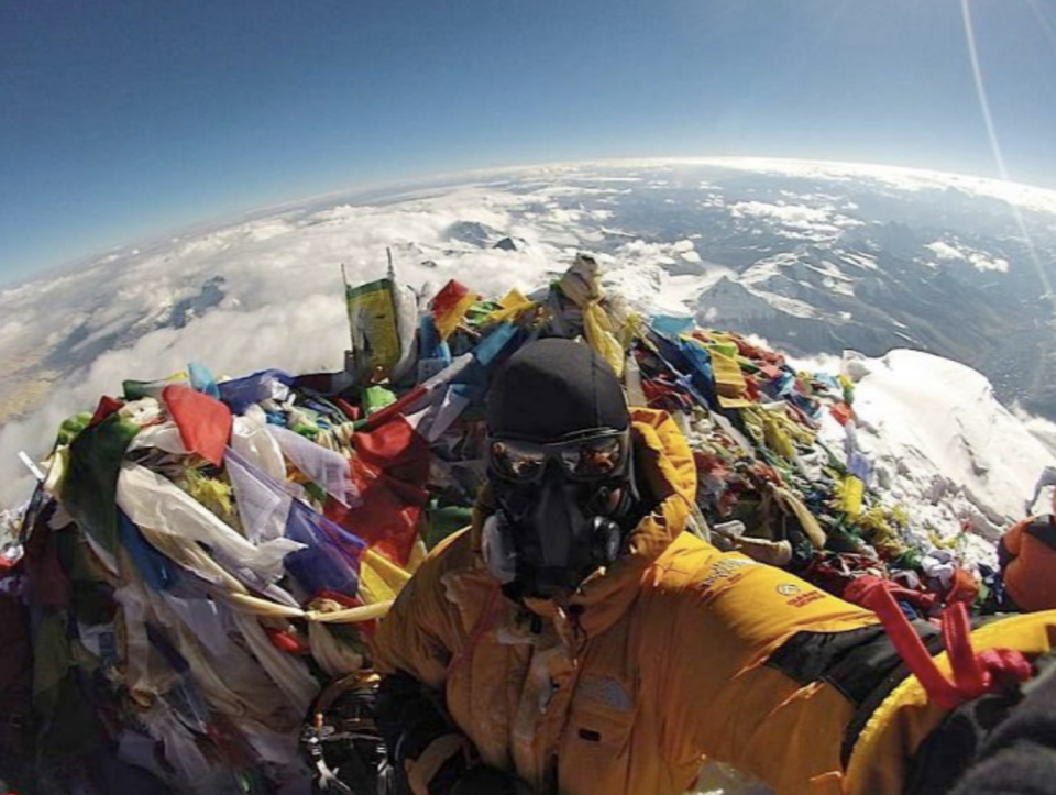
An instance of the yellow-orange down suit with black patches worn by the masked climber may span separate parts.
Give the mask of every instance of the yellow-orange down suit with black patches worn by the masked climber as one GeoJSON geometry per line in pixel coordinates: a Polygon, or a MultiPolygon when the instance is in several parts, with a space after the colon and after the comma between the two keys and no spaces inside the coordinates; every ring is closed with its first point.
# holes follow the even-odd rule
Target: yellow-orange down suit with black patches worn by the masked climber
{"type": "MultiPolygon", "coordinates": [[[[440,694],[457,727],[407,762],[411,788],[426,795],[444,760],[472,748],[540,795],[675,795],[705,758],[782,795],[899,792],[943,713],[911,676],[879,700],[876,682],[865,687],[855,655],[883,640],[876,616],[683,532],[688,443],[662,412],[632,420],[659,504],[629,553],[568,604],[505,598],[480,553],[485,494],[473,527],[432,552],[382,622],[378,671],[440,694]]],[[[1037,654],[1054,625],[1026,616],[974,641],[1037,654]]]]}

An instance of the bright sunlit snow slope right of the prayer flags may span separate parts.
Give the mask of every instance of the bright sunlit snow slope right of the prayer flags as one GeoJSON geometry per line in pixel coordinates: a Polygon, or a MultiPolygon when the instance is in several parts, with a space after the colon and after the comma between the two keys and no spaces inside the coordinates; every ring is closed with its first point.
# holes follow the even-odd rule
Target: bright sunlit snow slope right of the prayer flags
{"type": "MultiPolygon", "coordinates": [[[[970,367],[895,350],[881,358],[847,353],[843,371],[855,383],[857,441],[877,465],[878,485],[911,507],[914,525],[943,538],[970,523],[987,542],[967,540],[972,556],[1028,511],[1035,483],[1056,465],[970,367]]],[[[827,430],[842,442],[843,429],[827,430]]]]}

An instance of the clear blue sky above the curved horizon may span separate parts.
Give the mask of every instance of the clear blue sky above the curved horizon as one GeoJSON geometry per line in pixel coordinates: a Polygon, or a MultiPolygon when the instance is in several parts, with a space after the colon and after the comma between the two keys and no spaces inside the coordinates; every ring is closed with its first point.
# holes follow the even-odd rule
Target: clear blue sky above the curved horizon
{"type": "MultiPolygon", "coordinates": [[[[967,0],[1056,188],[1056,3],[967,0]]],[[[999,176],[963,0],[3,0],[0,284],[366,183],[759,155],[999,176]]]]}

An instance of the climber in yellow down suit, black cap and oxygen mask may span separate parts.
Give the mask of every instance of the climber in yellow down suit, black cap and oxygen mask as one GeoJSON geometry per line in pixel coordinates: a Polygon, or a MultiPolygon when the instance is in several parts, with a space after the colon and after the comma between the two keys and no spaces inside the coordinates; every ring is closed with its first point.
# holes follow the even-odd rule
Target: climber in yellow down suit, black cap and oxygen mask
{"type": "Polygon", "coordinates": [[[705,757],[780,795],[942,792],[950,757],[928,750],[944,720],[980,699],[1011,709],[1056,637],[1056,614],[970,637],[952,623],[954,682],[911,677],[900,653],[916,643],[914,673],[921,654],[934,664],[935,627],[889,634],[688,531],[685,438],[628,410],[585,344],[514,354],[486,426],[472,526],[433,550],[374,644],[380,728],[416,795],[676,795],[705,757]]]}

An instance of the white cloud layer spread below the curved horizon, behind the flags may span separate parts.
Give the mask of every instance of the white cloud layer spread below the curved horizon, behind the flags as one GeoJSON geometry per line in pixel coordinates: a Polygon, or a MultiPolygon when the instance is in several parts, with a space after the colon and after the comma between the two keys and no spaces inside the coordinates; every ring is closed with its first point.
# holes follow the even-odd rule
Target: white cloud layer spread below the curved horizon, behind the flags
{"type": "MultiPolygon", "coordinates": [[[[486,296],[534,289],[590,250],[608,269],[607,284],[641,311],[690,314],[696,297],[733,272],[702,257],[710,241],[701,233],[680,229],[706,229],[704,213],[725,213],[749,233],[827,240],[860,224],[856,205],[831,195],[853,177],[884,190],[953,186],[1001,200],[1010,190],[948,175],[744,159],[497,172],[369,203],[339,197],[261,212],[0,291],[0,506],[32,487],[18,452],[44,456],[65,417],[120,394],[125,378],[164,377],[190,362],[231,376],[339,368],[348,347],[342,266],[352,283],[381,277],[386,249],[399,279],[426,297],[450,278],[486,296]],[[825,179],[829,189],[724,194],[724,176],[738,172],[825,179]]],[[[743,186],[743,175],[729,185],[743,186]]],[[[1022,197],[1056,208],[1045,191],[1022,197]]],[[[977,253],[943,241],[922,251],[987,267],[977,253]]],[[[776,263],[759,267],[767,262],[776,263]]]]}

